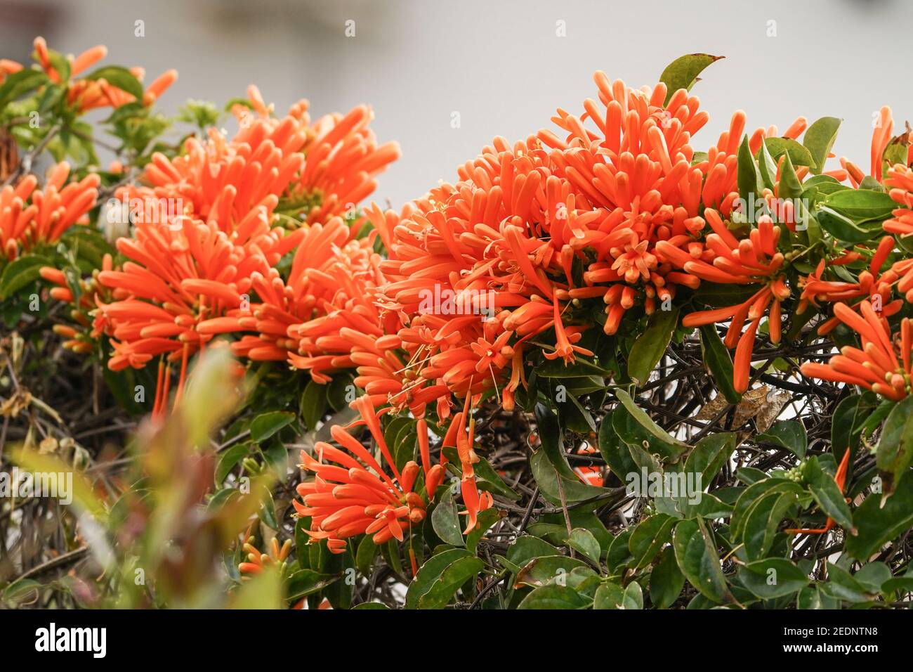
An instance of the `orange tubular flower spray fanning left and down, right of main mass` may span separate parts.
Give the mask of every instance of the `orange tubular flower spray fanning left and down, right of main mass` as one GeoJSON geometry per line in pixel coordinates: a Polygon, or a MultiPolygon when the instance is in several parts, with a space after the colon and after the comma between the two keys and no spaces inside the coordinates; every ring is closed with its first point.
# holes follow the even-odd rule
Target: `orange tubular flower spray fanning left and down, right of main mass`
{"type": "Polygon", "coordinates": [[[773,226],[770,217],[763,216],[756,229],[751,229],[748,238],[738,240],[732,234],[719,214],[707,208],[705,217],[713,229],[708,234],[706,245],[713,251],[713,263],[690,258],[684,251],[660,242],[657,251],[685,271],[711,283],[763,284],[749,299],[725,308],[698,311],[686,315],[682,325],[711,325],[729,320],[729,331],[724,340],[726,347],[736,348],[733,360],[733,387],[740,392],[748,389],[751,369],[751,350],[761,318],[767,313],[772,343],[779,343],[781,336],[781,302],[788,298],[790,289],[783,277],[783,255],[777,251],[780,227],[773,226]],[[748,329],[742,333],[746,320],[748,329]]]}

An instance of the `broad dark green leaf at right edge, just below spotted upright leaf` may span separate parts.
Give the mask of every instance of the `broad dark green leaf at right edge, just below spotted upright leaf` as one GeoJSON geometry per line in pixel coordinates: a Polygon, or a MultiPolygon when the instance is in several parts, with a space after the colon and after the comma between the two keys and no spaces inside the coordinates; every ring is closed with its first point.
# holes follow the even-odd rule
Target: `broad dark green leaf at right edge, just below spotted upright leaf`
{"type": "Polygon", "coordinates": [[[894,494],[884,500],[873,494],[853,512],[855,537],[846,538],[846,552],[856,560],[868,560],[887,541],[913,527],[913,472],[897,481],[894,494]]]}

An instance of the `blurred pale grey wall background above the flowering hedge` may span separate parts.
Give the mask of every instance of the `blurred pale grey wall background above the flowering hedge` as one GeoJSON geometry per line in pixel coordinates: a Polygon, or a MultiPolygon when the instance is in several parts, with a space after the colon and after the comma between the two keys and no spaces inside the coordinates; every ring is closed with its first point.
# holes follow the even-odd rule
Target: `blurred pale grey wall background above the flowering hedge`
{"type": "Polygon", "coordinates": [[[36,35],[63,53],[105,44],[106,63],[140,65],[147,81],[180,71],[160,102],[169,113],[188,98],[243,96],[251,82],[278,112],[299,98],[315,115],[368,102],[378,138],[403,148],[374,195],[398,207],[452,181],[493,136],[523,138],[559,106],[581,112],[594,70],[652,85],[693,52],[726,57],[693,90],[710,114],[696,149],[736,109],[750,129],[842,116],[834,151],[867,167],[878,108],[891,105],[898,123],[913,118],[908,9],[904,0],[0,0],[0,58],[27,62],[36,35]]]}

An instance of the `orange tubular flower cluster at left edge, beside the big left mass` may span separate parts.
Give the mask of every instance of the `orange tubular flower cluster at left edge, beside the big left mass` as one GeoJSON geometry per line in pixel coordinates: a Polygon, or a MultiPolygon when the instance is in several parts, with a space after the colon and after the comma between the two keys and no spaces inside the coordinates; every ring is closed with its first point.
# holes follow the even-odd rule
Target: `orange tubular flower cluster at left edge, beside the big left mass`
{"type": "Polygon", "coordinates": [[[65,187],[68,176],[69,165],[63,161],[48,170],[44,189],[38,189],[37,178],[29,175],[16,187],[0,191],[0,250],[7,259],[54,242],[74,224],[88,222],[83,218],[95,206],[100,178],[91,173],[65,187]]]}

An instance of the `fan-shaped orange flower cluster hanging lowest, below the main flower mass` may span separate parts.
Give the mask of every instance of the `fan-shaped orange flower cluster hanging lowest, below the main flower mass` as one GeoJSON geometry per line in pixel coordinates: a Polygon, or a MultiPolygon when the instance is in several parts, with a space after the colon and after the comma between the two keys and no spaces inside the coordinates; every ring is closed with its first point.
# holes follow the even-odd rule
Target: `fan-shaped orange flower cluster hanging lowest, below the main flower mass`
{"type": "MultiPolygon", "coordinates": [[[[344,552],[345,539],[360,534],[373,535],[377,544],[390,539],[403,541],[404,532],[425,519],[427,502],[444,473],[440,464],[425,464],[426,495],[421,496],[415,489],[421,467],[409,462],[402,473],[396,469],[371,400],[362,397],[352,406],[361,411],[362,421],[383,455],[382,461],[376,460],[352,434],[333,425],[331,436],[344,450],[319,442],[315,446],[317,459],[301,451],[301,468],[315,477],[297,488],[303,503],[292,502],[299,517],[310,517],[310,529],[305,531],[311,541],[327,539],[333,553],[344,552]],[[382,462],[393,475],[384,471],[382,462]]],[[[425,459],[425,451],[422,453],[425,459]]]]}

